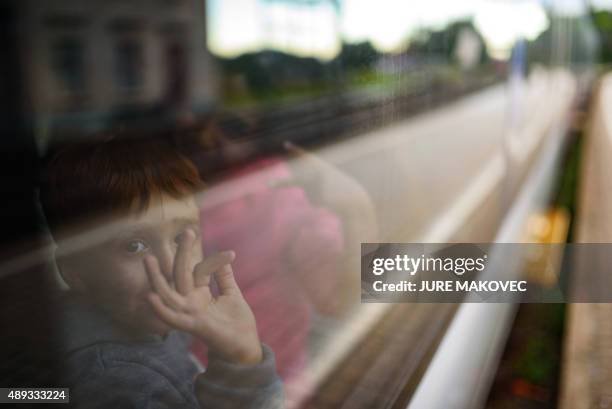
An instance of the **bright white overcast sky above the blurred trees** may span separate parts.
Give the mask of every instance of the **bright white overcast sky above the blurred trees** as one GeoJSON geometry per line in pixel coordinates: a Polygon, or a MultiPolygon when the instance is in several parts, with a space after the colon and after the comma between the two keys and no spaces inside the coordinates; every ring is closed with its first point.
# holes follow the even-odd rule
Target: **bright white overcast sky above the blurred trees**
{"type": "MultiPolygon", "coordinates": [[[[542,3],[553,0],[208,0],[208,43],[219,55],[271,48],[331,59],[341,40],[371,41],[379,50],[399,50],[423,27],[443,28],[471,17],[493,55],[509,52],[519,37],[535,38],[548,27],[542,3]],[[338,12],[340,11],[340,12],[338,12]]],[[[612,0],[592,0],[611,6],[612,0]]],[[[583,0],[554,0],[566,14],[583,0]]]]}

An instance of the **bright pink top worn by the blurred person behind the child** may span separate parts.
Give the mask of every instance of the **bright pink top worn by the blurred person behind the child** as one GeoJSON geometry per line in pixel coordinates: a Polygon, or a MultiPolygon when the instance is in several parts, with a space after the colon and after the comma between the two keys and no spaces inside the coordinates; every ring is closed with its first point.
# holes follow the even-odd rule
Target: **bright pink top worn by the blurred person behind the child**
{"type": "Polygon", "coordinates": [[[333,213],[301,187],[273,187],[290,178],[281,159],[253,162],[212,188],[200,214],[204,254],[236,252],[236,279],[285,380],[305,364],[313,308],[334,302],[344,247],[333,213]]]}

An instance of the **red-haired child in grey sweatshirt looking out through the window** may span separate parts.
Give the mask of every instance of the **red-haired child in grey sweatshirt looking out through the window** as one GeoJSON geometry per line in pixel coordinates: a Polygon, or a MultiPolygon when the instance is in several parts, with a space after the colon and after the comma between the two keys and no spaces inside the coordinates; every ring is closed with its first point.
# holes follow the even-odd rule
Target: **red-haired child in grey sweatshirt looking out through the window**
{"type": "Polygon", "coordinates": [[[157,139],[82,143],[49,162],[41,202],[70,288],[64,346],[77,406],[282,406],[273,353],[234,280],[234,254],[201,261],[199,180],[157,139]],[[204,373],[187,335],[208,345],[204,373]]]}

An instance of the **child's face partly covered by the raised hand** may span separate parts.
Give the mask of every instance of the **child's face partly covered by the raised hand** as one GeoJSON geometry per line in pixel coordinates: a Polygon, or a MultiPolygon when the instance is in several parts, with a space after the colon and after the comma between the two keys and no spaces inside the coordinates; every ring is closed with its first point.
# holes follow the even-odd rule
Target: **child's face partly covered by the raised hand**
{"type": "Polygon", "coordinates": [[[177,242],[186,228],[196,233],[192,266],[202,260],[199,211],[193,197],[153,197],[149,208],[122,219],[110,240],[78,254],[78,288],[116,320],[139,332],[164,334],[170,329],[147,300],[151,285],[144,257],[157,257],[162,273],[174,285],[172,268],[177,242]]]}

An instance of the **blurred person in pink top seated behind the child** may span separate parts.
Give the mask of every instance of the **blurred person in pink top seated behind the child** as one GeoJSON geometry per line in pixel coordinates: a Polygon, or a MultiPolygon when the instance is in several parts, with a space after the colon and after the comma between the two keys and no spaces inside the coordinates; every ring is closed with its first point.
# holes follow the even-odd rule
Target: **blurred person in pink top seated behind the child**
{"type": "MultiPolygon", "coordinates": [[[[210,130],[205,136],[201,146],[210,149],[210,130]]],[[[290,143],[290,161],[246,160],[253,145],[244,139],[212,139],[232,170],[201,199],[203,250],[235,252],[236,279],[261,339],[291,382],[307,363],[314,315],[340,314],[347,299],[358,300],[359,243],[375,235],[373,206],[352,178],[290,143]]],[[[193,349],[205,361],[204,346],[193,349]]]]}

